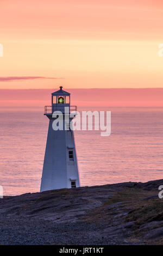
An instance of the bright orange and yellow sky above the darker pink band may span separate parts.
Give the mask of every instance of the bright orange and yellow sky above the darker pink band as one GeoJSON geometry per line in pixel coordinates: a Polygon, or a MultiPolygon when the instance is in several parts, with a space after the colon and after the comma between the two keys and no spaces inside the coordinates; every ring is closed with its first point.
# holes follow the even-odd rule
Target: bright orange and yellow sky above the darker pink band
{"type": "Polygon", "coordinates": [[[0,89],[162,87],[162,0],[0,0],[0,9],[0,89]]]}

